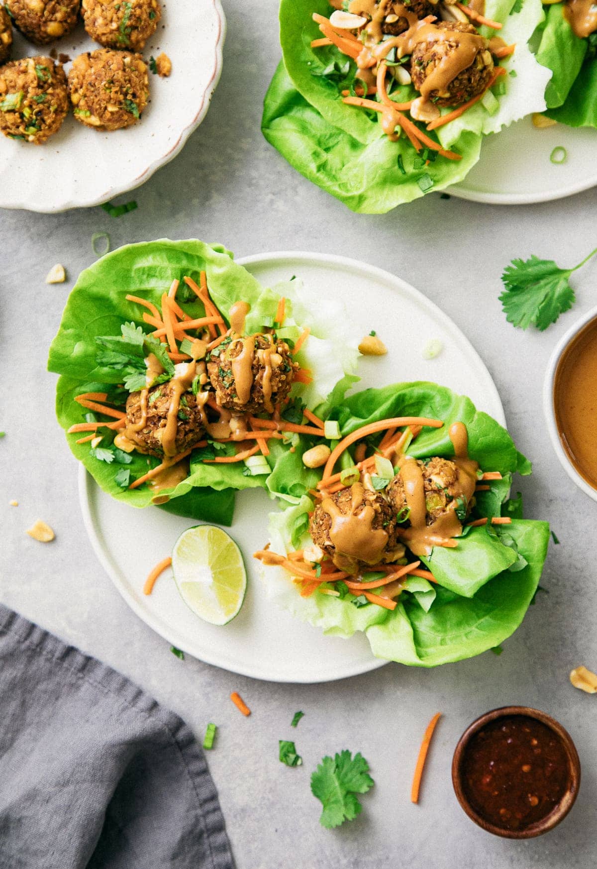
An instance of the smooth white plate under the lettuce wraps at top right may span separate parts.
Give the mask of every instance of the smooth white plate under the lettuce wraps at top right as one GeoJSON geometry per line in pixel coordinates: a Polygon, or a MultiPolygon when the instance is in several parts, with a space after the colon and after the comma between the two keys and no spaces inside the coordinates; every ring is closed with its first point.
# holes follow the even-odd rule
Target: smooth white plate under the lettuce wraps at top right
{"type": "Polygon", "coordinates": [[[486,136],[481,159],[460,184],[448,192],[473,202],[530,205],[572,196],[597,185],[597,130],[558,123],[537,129],[530,117],[497,136],[486,136]],[[554,164],[554,148],[567,151],[565,163],[554,164]]]}

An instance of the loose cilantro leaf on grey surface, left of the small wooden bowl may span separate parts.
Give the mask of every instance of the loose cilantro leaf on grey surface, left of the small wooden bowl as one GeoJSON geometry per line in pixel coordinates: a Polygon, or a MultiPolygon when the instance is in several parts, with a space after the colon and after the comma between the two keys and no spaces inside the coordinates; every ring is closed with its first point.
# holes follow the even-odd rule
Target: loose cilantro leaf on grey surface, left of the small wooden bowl
{"type": "Polygon", "coordinates": [[[367,793],[374,781],[368,775],[369,765],[362,754],[353,758],[349,751],[324,757],[311,776],[311,791],[320,800],[323,811],[319,822],[331,828],[361,813],[357,793],[367,793]]]}

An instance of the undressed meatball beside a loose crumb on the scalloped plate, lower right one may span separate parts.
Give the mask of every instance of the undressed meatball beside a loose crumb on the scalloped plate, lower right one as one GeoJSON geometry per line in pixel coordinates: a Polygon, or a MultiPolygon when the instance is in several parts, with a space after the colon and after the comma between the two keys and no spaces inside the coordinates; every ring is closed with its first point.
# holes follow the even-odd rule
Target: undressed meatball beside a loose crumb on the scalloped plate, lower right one
{"type": "Polygon", "coordinates": [[[130,127],[149,99],[147,66],[130,51],[88,52],[73,61],[69,92],[77,121],[96,129],[130,127]]]}

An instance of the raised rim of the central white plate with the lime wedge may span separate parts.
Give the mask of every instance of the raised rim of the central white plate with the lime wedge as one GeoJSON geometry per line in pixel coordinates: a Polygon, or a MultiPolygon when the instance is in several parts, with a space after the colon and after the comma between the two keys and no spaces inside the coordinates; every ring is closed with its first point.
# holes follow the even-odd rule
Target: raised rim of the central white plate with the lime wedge
{"type": "MultiPolygon", "coordinates": [[[[454,335],[458,336],[462,348],[466,349],[468,354],[472,356],[474,361],[479,366],[479,375],[481,375],[482,373],[482,379],[486,381],[485,388],[488,390],[489,393],[492,394],[493,399],[496,401],[496,407],[501,408],[501,415],[496,415],[495,418],[498,419],[501,425],[506,425],[506,416],[504,414],[500,394],[491,374],[489,373],[487,365],[481,359],[481,355],[479,355],[473,344],[468,340],[468,337],[454,322],[452,317],[442,311],[439,305],[436,305],[435,302],[432,302],[430,299],[428,299],[428,297],[424,293],[422,293],[421,290],[416,289],[415,287],[413,287],[412,284],[404,281],[401,277],[398,277],[398,275],[393,275],[386,269],[381,269],[378,266],[369,264],[368,262],[363,262],[362,260],[355,260],[352,257],[342,256],[338,254],[317,253],[301,250],[282,250],[274,252],[265,251],[260,254],[251,254],[239,257],[237,260],[235,260],[235,262],[237,262],[239,265],[247,267],[255,264],[266,265],[269,262],[282,262],[284,260],[293,260],[294,262],[309,262],[310,264],[314,264],[316,262],[318,265],[323,264],[324,267],[330,265],[340,266],[345,269],[357,269],[362,272],[366,272],[368,275],[375,275],[378,280],[386,282],[390,287],[394,285],[395,289],[400,289],[402,292],[410,295],[410,297],[414,298],[418,304],[422,305],[424,308],[427,308],[431,314],[435,316],[441,315],[444,321],[448,323],[448,328],[454,331],[454,335]]],[[[138,616],[145,625],[151,628],[151,630],[161,636],[163,640],[167,640],[169,643],[172,643],[171,638],[167,635],[168,632],[163,631],[162,627],[154,619],[154,615],[145,610],[141,606],[141,604],[138,603],[137,600],[127,592],[126,586],[123,584],[118,575],[118,569],[112,565],[109,557],[109,551],[107,548],[103,547],[103,544],[99,539],[99,534],[97,534],[96,532],[96,527],[94,526],[92,517],[91,487],[99,488],[99,486],[82,463],[79,463],[77,483],[79,505],[81,507],[81,513],[83,515],[83,525],[91,543],[91,547],[96,554],[98,561],[105,570],[106,574],[108,574],[109,580],[112,582],[112,585],[116,587],[118,593],[126,602],[127,606],[136,614],[136,616],[138,616]]],[[[239,665],[235,666],[234,670],[231,670],[228,667],[223,666],[222,663],[218,660],[212,658],[209,653],[202,654],[202,657],[199,658],[195,652],[189,649],[189,647],[185,647],[184,642],[179,644],[179,642],[177,641],[176,645],[178,648],[181,648],[183,652],[189,654],[191,657],[196,658],[196,660],[201,660],[202,663],[209,664],[213,667],[220,667],[220,669],[224,669],[229,673],[236,673],[241,676],[247,676],[251,679],[275,682],[284,685],[316,685],[325,682],[349,679],[354,676],[362,675],[363,673],[370,673],[374,670],[379,669],[380,667],[385,667],[386,665],[392,663],[389,660],[378,659],[372,655],[371,659],[366,661],[362,665],[356,667],[353,665],[344,670],[338,670],[335,674],[322,676],[322,678],[284,678],[278,674],[263,675],[262,673],[256,673],[253,667],[243,667],[242,662],[239,665]]]]}

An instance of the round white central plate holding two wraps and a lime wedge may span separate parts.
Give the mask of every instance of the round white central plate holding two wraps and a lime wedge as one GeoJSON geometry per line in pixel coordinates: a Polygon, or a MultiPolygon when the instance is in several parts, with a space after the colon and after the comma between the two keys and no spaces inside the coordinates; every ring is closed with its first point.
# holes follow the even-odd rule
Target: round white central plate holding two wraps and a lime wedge
{"type": "MultiPolygon", "coordinates": [[[[437,381],[469,395],[478,408],[505,424],[500,396],[468,340],[432,302],[388,272],[327,254],[261,254],[239,261],[265,286],[299,276],[311,289],[363,308],[363,334],[375,328],[388,355],[363,357],[361,388],[395,381],[437,381]],[[400,335],[400,344],[392,342],[400,335]],[[439,338],[444,348],[426,361],[421,350],[439,338]],[[398,358],[400,348],[400,358],[398,358]]],[[[237,494],[230,529],[244,554],[249,588],[241,613],[226,627],[194,616],[182,602],[171,574],[143,595],[143,580],[168,555],[178,535],[194,523],[156,507],[128,507],[105,494],[87,474],[79,476],[83,518],[99,560],[124,600],[158,634],[196,658],[234,673],[280,682],[322,682],[366,673],[386,661],[374,658],[362,634],[350,640],[325,637],[318,628],[275,609],[262,594],[251,554],[266,540],[267,516],[275,503],[261,489],[237,494]]]]}

